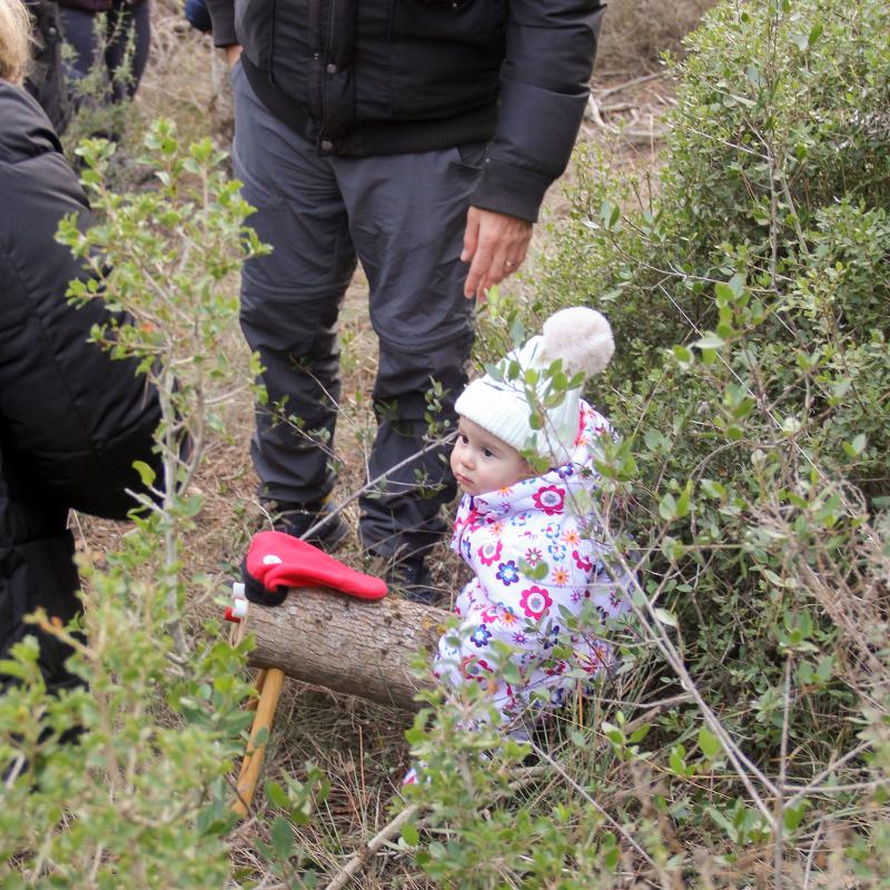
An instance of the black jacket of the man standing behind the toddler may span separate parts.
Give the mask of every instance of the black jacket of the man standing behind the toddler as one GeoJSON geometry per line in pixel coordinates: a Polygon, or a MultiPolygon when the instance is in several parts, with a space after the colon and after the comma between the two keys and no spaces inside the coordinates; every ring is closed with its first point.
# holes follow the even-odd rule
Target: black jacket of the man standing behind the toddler
{"type": "Polygon", "coordinates": [[[218,47],[320,154],[487,141],[472,204],[534,220],[587,101],[600,0],[207,0],[218,47]]]}

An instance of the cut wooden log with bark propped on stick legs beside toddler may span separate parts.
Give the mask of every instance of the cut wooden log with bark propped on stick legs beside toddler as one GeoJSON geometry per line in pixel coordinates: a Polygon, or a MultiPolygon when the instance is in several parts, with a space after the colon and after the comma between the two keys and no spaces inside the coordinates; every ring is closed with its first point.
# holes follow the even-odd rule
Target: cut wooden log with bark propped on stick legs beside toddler
{"type": "Polygon", "coordinates": [[[278,606],[250,603],[238,633],[253,634],[249,663],[333,692],[417,710],[409,662],[432,652],[449,613],[389,594],[357,600],[329,590],[291,590],[278,606]]]}

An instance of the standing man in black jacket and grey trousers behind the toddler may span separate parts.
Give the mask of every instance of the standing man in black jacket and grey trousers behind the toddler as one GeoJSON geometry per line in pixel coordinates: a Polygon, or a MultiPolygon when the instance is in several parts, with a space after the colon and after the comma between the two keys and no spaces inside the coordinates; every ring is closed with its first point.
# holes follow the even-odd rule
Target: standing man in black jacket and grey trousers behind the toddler
{"type": "MultiPolygon", "coordinates": [[[[423,445],[431,378],[454,418],[471,303],[525,258],[544,194],[584,112],[599,0],[208,0],[233,68],[234,165],[250,224],[274,251],[250,260],[241,324],[269,404],[257,412],[260,496],[300,535],[328,508],[326,454],[339,398],[337,314],[356,264],[380,342],[365,546],[415,593],[454,495],[423,445]],[[241,52],[243,48],[243,52],[241,52]],[[240,59],[238,57],[240,55],[240,59]],[[236,61],[238,60],[238,61],[236,61]],[[467,269],[467,265],[468,269],[467,269]],[[417,478],[438,492],[418,493],[417,478]]],[[[317,538],[344,533],[330,520],[317,538]]],[[[428,592],[427,592],[428,595],[428,592]]],[[[418,597],[419,599],[419,597],[418,597]]]]}

